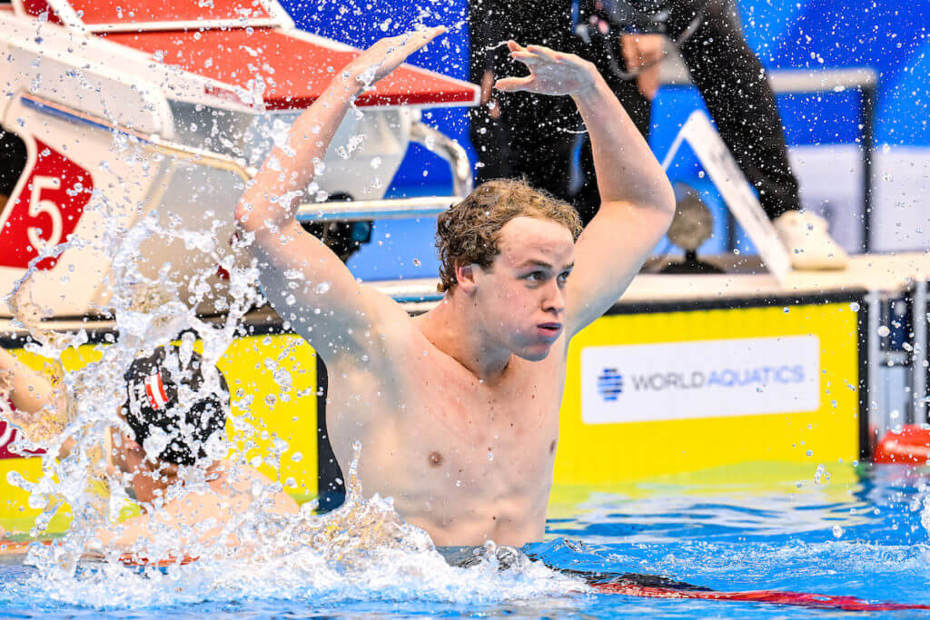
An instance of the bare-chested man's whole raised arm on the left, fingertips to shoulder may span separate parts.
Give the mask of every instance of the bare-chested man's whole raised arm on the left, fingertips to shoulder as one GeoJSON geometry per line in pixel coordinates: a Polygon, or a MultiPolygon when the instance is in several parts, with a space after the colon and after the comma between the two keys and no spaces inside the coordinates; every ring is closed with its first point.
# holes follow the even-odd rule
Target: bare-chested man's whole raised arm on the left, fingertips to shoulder
{"type": "Polygon", "coordinates": [[[300,193],[323,161],[352,100],[366,86],[400,66],[410,54],[445,32],[436,27],[381,39],[352,60],[275,148],[236,208],[236,219],[254,232],[253,255],[274,310],[327,357],[358,353],[359,338],[379,315],[401,311],[389,297],[358,284],[352,273],[296,219],[300,193]],[[294,288],[291,288],[294,286],[294,288]]]}

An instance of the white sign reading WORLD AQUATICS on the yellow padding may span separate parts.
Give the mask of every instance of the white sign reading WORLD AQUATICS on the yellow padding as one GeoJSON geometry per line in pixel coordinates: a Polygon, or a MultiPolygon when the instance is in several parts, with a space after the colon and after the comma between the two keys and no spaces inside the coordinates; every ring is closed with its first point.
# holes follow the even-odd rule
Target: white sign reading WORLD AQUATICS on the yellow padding
{"type": "Polygon", "coordinates": [[[663,342],[581,351],[581,419],[586,424],[819,408],[817,336],[663,342]]]}

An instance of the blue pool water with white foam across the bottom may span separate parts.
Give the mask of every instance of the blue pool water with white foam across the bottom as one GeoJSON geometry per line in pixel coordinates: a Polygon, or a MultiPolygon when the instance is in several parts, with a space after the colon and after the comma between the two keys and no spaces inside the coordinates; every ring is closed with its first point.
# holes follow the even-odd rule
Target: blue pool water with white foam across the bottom
{"type": "MultiPolygon", "coordinates": [[[[815,467],[793,481],[557,487],[547,538],[525,551],[562,569],[658,574],[719,590],[930,603],[930,473],[846,465],[833,466],[827,480],[815,467]]],[[[601,594],[540,564],[451,568],[433,552],[387,553],[362,571],[316,565],[297,554],[272,564],[194,563],[149,574],[86,565],[82,577],[68,577],[56,590],[37,587],[35,569],[7,558],[0,560],[0,617],[863,615],[601,594]]],[[[930,617],[883,613],[915,614],[930,617]]]]}

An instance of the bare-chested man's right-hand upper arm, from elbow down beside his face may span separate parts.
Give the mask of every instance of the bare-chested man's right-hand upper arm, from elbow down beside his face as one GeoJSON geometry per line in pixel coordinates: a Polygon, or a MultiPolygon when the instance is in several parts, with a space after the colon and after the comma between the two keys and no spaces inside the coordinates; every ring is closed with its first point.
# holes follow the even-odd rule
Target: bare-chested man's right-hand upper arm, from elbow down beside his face
{"type": "Polygon", "coordinates": [[[616,304],[671,218],[631,203],[604,204],[575,244],[565,283],[566,332],[574,336],[616,304]]]}

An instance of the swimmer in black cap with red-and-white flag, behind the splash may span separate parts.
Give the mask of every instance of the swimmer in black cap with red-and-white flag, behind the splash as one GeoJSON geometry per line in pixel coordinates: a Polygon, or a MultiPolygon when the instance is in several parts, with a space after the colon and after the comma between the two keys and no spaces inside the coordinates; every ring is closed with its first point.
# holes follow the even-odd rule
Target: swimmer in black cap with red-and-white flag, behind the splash
{"type": "MultiPolygon", "coordinates": [[[[178,347],[159,347],[135,360],[126,372],[127,399],[117,414],[126,426],[110,428],[107,465],[109,477],[139,503],[142,514],[100,530],[97,538],[102,547],[138,547],[153,536],[153,529],[162,528],[177,532],[179,548],[184,549],[199,541],[218,540],[229,521],[246,510],[298,512],[297,503],[283,490],[270,492],[263,498],[265,503],[253,506],[253,482],[273,489],[272,481],[253,468],[206,455],[209,442],[220,440],[224,432],[229,391],[219,374],[220,396],[211,395],[181,410],[180,403],[188,398],[183,392],[199,389],[204,380],[200,363],[196,352],[181,363],[178,347]],[[182,468],[191,466],[204,472],[199,477],[203,483],[185,492],[191,477],[185,477],[182,468]]],[[[27,436],[47,438],[67,425],[63,390],[2,349],[0,399],[16,408],[7,417],[27,436]]],[[[73,440],[65,442],[60,456],[73,445],[73,440]]],[[[239,545],[234,532],[225,535],[220,543],[239,545]]]]}

